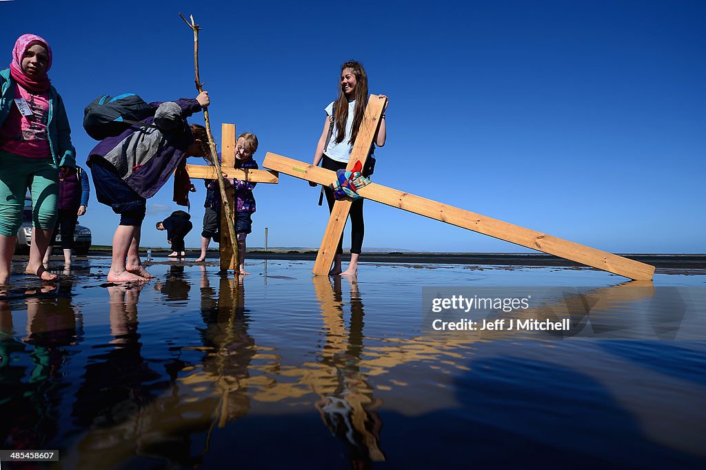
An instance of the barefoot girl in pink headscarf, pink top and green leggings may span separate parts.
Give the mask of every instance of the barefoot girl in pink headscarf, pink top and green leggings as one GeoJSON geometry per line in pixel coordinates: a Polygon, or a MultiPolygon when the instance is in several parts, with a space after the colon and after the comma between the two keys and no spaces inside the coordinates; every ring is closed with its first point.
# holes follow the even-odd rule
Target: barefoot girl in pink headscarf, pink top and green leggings
{"type": "Polygon", "coordinates": [[[56,279],[43,264],[56,224],[59,168],[76,167],[64,101],[47,71],[52,49],[37,35],[18,38],[9,69],[0,71],[0,286],[22,223],[25,194],[32,194],[32,245],[27,273],[56,279]]]}

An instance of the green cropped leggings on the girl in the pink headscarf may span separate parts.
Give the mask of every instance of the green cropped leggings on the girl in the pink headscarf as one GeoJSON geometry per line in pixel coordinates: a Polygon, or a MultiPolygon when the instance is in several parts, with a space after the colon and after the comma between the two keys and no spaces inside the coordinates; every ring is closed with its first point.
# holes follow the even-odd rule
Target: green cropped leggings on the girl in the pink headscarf
{"type": "Polygon", "coordinates": [[[32,225],[43,230],[54,228],[59,200],[59,171],[54,160],[0,151],[0,235],[17,235],[28,188],[32,193],[32,225]]]}

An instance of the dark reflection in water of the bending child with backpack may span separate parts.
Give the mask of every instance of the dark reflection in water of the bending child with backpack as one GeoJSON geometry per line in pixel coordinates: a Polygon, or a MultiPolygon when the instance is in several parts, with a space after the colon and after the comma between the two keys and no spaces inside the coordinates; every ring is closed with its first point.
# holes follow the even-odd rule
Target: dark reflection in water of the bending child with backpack
{"type": "Polygon", "coordinates": [[[206,418],[185,417],[189,403],[181,400],[172,382],[184,363],[159,364],[164,361],[143,358],[138,333],[142,289],[142,284],[107,288],[111,348],[92,356],[86,365],[73,416],[77,425],[90,431],[66,452],[63,460],[70,466],[111,468],[138,455],[187,466],[201,462],[191,456],[189,431],[198,430],[199,418],[206,418]]]}

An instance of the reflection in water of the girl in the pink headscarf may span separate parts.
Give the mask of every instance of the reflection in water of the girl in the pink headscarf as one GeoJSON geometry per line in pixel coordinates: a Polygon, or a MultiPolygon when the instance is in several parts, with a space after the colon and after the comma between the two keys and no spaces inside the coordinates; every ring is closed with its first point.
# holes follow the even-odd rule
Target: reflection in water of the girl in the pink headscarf
{"type": "MultiPolygon", "coordinates": [[[[27,324],[15,331],[8,301],[0,301],[0,448],[37,450],[56,436],[64,394],[61,368],[80,342],[80,312],[70,279],[25,291],[27,324]]],[[[18,310],[15,308],[15,310],[18,310]]]]}

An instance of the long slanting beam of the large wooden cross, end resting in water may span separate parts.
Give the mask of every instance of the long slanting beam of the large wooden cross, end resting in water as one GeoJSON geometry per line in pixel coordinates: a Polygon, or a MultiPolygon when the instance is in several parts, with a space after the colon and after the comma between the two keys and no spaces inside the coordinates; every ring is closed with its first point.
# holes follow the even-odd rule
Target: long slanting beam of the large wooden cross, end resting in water
{"type": "MultiPolygon", "coordinates": [[[[315,167],[309,163],[293,160],[292,158],[283,157],[282,155],[276,155],[270,152],[265,155],[263,166],[270,168],[270,170],[285,173],[285,175],[294,176],[318,184],[330,184],[336,179],[336,173],[331,170],[325,170],[324,168],[315,167]]],[[[511,223],[498,221],[495,218],[481,216],[474,212],[447,206],[446,204],[414,196],[414,194],[385,187],[381,184],[368,184],[359,189],[358,194],[366,199],[417,213],[420,216],[450,223],[457,227],[467,228],[474,232],[490,235],[491,237],[522,245],[523,247],[536,249],[540,252],[554,254],[558,257],[570,259],[571,261],[581,264],[587,264],[596,269],[602,269],[603,271],[619,274],[627,278],[650,281],[654,275],[654,266],[650,266],[649,264],[636,262],[616,254],[562,240],[561,238],[552,237],[551,235],[546,235],[546,233],[522,228],[511,223]]],[[[337,201],[336,204],[338,204],[338,202],[340,201],[337,201]]],[[[335,213],[332,213],[331,218],[333,219],[334,216],[335,213]]],[[[342,221],[336,222],[345,225],[345,218],[343,218],[342,221]]],[[[330,224],[331,221],[329,221],[329,227],[330,224]]],[[[330,242],[330,247],[332,247],[333,250],[335,250],[339,238],[340,235],[337,237],[330,235],[327,228],[324,241],[330,242]]],[[[315,269],[313,274],[327,274],[328,268],[329,266],[325,266],[325,272],[315,269]]]]}

